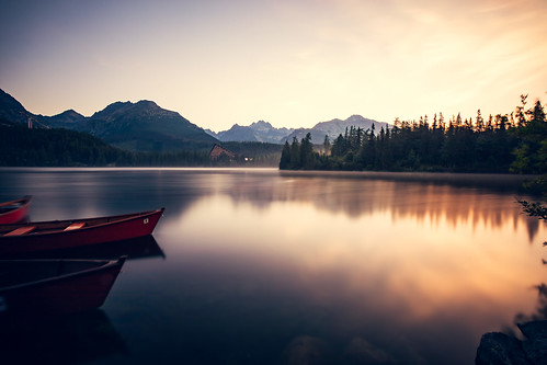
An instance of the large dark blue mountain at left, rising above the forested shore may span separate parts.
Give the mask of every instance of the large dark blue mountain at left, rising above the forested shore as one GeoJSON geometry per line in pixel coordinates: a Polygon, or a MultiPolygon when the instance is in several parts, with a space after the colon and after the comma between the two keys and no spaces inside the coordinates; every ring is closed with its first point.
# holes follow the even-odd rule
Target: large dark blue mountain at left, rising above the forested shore
{"type": "Polygon", "coordinates": [[[35,115],[0,89],[0,119],[33,127],[66,128],[89,133],[103,141],[135,151],[208,150],[218,140],[179,113],[151,101],[115,102],[86,117],[73,110],[54,116],[35,115]]]}

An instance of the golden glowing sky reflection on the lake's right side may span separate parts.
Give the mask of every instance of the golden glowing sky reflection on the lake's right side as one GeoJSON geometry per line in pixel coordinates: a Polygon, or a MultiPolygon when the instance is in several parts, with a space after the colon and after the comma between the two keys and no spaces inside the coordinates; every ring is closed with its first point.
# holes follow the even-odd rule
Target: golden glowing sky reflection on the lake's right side
{"type": "Polygon", "coordinates": [[[531,288],[545,278],[547,231],[508,194],[335,179],[257,184],[252,176],[230,176],[215,191],[166,223],[164,235],[184,237],[168,256],[260,260],[292,272],[292,285],[319,305],[351,298],[350,317],[388,310],[401,323],[448,312],[476,317],[477,327],[486,318],[510,322],[534,310],[531,288]]]}

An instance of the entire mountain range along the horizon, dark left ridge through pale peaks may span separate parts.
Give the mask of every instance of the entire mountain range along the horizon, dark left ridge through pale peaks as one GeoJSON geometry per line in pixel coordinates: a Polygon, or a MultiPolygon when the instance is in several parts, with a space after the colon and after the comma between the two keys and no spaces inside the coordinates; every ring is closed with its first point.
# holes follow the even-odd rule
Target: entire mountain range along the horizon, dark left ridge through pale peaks
{"type": "Polygon", "coordinates": [[[103,141],[128,150],[170,152],[176,150],[205,150],[220,141],[253,141],[284,144],[311,134],[314,144],[322,144],[324,136],[331,140],[351,126],[377,129],[388,124],[352,115],[347,119],[321,122],[312,128],[275,128],[259,121],[249,126],[233,125],[230,129],[214,133],[203,129],[176,112],[161,109],[152,101],[137,103],[115,102],[92,116],[68,110],[54,116],[33,114],[0,89],[0,122],[30,124],[42,128],[67,128],[89,133],[103,141]]]}

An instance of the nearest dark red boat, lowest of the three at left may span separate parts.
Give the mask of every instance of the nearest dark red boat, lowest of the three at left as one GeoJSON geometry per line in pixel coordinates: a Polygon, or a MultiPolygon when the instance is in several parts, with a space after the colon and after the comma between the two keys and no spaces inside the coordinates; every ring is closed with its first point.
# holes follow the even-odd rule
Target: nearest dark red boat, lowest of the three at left
{"type": "Polygon", "coordinates": [[[118,260],[0,260],[0,316],[66,315],[103,305],[118,260]]]}

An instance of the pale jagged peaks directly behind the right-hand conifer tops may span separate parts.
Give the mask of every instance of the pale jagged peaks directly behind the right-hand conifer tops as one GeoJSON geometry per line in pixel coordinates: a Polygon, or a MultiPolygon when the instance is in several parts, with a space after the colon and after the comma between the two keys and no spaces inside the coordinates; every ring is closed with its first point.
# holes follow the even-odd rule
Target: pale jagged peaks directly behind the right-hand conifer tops
{"type": "Polygon", "coordinates": [[[290,142],[294,137],[296,137],[297,140],[301,140],[301,138],[306,137],[308,133],[311,135],[311,142],[315,145],[322,144],[324,141],[326,135],[329,136],[329,139],[332,142],[339,135],[344,135],[345,128],[350,129],[352,126],[354,126],[366,130],[372,128],[373,124],[376,128],[376,132],[379,132],[381,127],[386,128],[386,126],[389,125],[388,123],[368,119],[361,115],[352,115],[345,121],[337,118],[329,122],[318,123],[312,128],[296,129],[286,138],[284,138],[283,142],[285,142],[285,140],[288,140],[290,142]]]}

